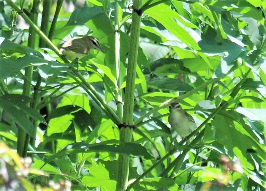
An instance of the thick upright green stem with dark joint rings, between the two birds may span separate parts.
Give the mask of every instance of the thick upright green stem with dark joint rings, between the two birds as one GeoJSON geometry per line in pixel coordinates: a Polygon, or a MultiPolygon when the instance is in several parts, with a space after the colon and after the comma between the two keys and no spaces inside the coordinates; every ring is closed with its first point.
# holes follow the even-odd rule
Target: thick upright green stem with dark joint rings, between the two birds
{"type": "MultiPolygon", "coordinates": [[[[128,56],[128,68],[126,76],[126,87],[125,87],[125,106],[123,111],[123,122],[125,127],[120,129],[120,144],[125,142],[131,142],[132,139],[132,128],[127,125],[133,125],[133,109],[134,109],[134,92],[135,92],[135,79],[136,79],[136,68],[137,58],[139,49],[139,37],[140,37],[140,24],[141,14],[138,15],[137,11],[142,5],[141,0],[133,0],[133,15],[131,23],[131,34],[130,34],[130,47],[128,56]]],[[[128,172],[129,172],[129,160],[130,157],[119,154],[118,158],[118,176],[116,191],[122,191],[127,188],[128,172]]]]}

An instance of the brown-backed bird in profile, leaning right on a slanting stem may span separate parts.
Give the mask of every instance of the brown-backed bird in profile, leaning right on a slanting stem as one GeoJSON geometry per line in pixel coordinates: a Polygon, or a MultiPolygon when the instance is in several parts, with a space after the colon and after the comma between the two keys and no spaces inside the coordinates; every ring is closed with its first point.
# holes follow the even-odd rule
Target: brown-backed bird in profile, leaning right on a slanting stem
{"type": "Polygon", "coordinates": [[[64,53],[67,59],[74,60],[82,58],[90,53],[90,50],[96,49],[105,52],[100,46],[99,41],[92,36],[75,37],[69,39],[60,47],[59,53],[64,53]]]}

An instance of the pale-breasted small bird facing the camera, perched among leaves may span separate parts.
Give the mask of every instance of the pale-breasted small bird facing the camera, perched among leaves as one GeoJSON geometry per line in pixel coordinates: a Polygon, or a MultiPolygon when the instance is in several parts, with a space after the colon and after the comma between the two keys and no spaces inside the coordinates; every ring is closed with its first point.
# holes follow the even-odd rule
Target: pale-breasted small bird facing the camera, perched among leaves
{"type": "Polygon", "coordinates": [[[168,122],[181,139],[190,135],[197,128],[193,117],[183,110],[179,103],[171,103],[169,111],[168,122]]]}

